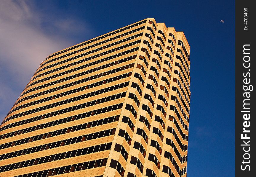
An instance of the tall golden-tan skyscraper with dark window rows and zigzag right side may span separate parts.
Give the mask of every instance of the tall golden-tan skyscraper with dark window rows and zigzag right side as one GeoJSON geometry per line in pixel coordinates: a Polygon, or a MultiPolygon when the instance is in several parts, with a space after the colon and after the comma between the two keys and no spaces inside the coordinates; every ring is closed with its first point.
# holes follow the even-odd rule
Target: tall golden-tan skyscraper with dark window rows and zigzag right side
{"type": "Polygon", "coordinates": [[[186,176],[189,50],[148,18],[48,56],[0,126],[0,176],[186,176]]]}

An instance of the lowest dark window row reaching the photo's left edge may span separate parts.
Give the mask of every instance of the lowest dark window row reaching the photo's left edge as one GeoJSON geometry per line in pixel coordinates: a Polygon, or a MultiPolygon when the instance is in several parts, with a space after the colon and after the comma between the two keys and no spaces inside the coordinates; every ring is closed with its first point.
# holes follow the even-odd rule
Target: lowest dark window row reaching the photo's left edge
{"type": "Polygon", "coordinates": [[[112,145],[112,142],[101,144],[101,145],[94,145],[90,146],[87,148],[82,148],[82,149],[77,149],[77,150],[71,150],[68,152],[63,152],[63,153],[58,153],[58,154],[52,154],[48,155],[45,157],[40,157],[36,159],[31,159],[31,160],[25,160],[22,162],[17,162],[17,163],[12,163],[9,165],[4,165],[0,167],[0,173],[4,171],[10,171],[10,170],[15,170],[18,168],[24,168],[28,166],[33,166],[37,164],[42,164],[42,163],[47,163],[47,162],[52,162],[56,160],[62,160],[66,158],[71,158],[71,157],[77,157],[81,155],[87,155],[87,154],[92,154],[96,152],[101,152],[104,150],[110,150],[112,145]]]}

